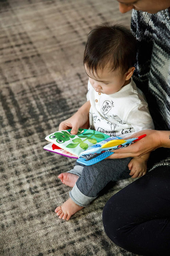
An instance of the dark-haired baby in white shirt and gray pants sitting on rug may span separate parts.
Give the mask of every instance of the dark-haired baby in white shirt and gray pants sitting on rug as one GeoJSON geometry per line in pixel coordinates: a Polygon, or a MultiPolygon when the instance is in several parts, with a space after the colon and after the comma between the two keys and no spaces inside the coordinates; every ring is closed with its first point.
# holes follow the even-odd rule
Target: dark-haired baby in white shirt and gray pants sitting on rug
{"type": "MultiPolygon", "coordinates": [[[[136,40],[127,27],[103,24],[89,34],[84,52],[84,68],[89,77],[87,102],[59,130],[89,128],[110,136],[128,137],[144,129],[154,129],[147,102],[132,75],[136,40]]],[[[145,131],[143,132],[145,133],[145,131]]],[[[91,166],[76,162],[74,169],[58,177],[70,187],[70,198],[55,209],[59,218],[88,206],[110,181],[146,174],[149,154],[140,158],[104,159],[91,166]]]]}

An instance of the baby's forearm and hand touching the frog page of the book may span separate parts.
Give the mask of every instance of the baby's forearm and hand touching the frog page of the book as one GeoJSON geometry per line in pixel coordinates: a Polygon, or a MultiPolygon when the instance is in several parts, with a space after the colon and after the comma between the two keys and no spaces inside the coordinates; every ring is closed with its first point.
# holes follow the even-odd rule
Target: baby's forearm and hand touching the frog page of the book
{"type": "Polygon", "coordinates": [[[89,110],[90,101],[87,101],[73,116],[60,123],[59,131],[71,129],[71,134],[76,134],[79,128],[88,129],[89,110]]]}

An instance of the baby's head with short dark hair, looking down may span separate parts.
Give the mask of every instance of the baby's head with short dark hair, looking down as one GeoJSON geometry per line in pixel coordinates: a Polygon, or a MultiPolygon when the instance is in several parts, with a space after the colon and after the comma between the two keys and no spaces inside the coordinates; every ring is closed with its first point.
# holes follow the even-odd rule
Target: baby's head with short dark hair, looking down
{"type": "Polygon", "coordinates": [[[94,89],[112,94],[130,82],[136,58],[136,39],[122,25],[103,24],[88,34],[84,67],[94,89]]]}

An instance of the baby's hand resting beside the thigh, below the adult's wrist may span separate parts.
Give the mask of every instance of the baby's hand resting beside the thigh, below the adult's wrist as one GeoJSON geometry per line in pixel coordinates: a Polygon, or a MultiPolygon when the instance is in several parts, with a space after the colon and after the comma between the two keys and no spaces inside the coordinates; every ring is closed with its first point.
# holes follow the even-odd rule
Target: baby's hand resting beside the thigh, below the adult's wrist
{"type": "Polygon", "coordinates": [[[147,170],[147,161],[140,158],[133,158],[129,164],[128,164],[129,170],[131,172],[129,173],[132,178],[141,177],[146,174],[147,170]]]}

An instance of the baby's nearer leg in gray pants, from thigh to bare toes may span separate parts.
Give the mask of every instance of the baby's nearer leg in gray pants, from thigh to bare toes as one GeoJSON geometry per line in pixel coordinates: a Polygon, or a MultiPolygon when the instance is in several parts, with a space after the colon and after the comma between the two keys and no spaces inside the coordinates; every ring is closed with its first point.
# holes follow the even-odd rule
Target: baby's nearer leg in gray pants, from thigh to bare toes
{"type": "Polygon", "coordinates": [[[119,180],[124,172],[126,175],[123,178],[130,178],[127,167],[130,160],[131,158],[106,159],[95,165],[84,166],[82,175],[70,192],[71,198],[55,210],[59,218],[70,219],[75,212],[88,206],[108,182],[119,180]]]}

